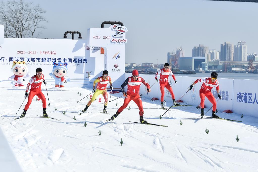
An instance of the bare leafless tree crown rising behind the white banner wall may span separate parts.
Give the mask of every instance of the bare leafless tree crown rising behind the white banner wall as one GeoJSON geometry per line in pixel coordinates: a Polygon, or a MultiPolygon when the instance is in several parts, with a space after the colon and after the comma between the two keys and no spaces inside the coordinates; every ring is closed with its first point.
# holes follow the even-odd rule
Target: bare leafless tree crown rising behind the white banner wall
{"type": "MultiPolygon", "coordinates": [[[[46,13],[39,5],[26,3],[22,0],[0,3],[0,23],[6,28],[6,38],[34,38],[36,30],[45,29],[43,16],[46,13]]],[[[36,34],[37,38],[41,31],[36,34]]]]}

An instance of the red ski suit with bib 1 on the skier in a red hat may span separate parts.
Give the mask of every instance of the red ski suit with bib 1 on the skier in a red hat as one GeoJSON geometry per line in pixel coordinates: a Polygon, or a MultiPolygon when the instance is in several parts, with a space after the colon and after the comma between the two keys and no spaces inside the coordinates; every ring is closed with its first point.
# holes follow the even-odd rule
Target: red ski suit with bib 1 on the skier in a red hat
{"type": "Polygon", "coordinates": [[[121,85],[121,90],[125,92],[124,87],[127,85],[127,96],[125,97],[124,104],[117,110],[118,113],[122,112],[132,100],[137,104],[140,116],[143,116],[142,100],[139,95],[141,83],[150,89],[150,85],[146,83],[142,77],[138,77],[136,80],[134,80],[133,77],[129,77],[124,81],[121,85]]]}

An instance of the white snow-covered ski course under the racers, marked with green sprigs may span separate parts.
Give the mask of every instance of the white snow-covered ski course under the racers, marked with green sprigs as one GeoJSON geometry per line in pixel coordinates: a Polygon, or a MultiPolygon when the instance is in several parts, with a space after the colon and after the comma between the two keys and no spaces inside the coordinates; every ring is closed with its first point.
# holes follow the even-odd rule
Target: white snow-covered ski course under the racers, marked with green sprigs
{"type": "MultiPolygon", "coordinates": [[[[36,101],[36,96],[26,117],[12,121],[27,102],[15,115],[24,100],[24,90],[1,88],[0,127],[23,171],[258,171],[255,117],[241,118],[239,114],[219,112],[220,117],[243,122],[200,119],[200,110],[195,106],[181,106],[171,108],[159,119],[165,113],[157,109],[160,102],[143,97],[144,119],[168,127],[129,122],[139,122],[139,110],[133,101],[128,105],[130,110],[124,109],[114,121],[106,122],[124,99],[109,102],[110,114],[102,114],[99,112],[103,111],[104,99],[100,95],[102,102],[93,102],[87,113],[78,116],[89,99],[77,101],[90,92],[91,89],[83,88],[67,88],[67,91],[49,88],[51,106],[47,107],[47,113],[60,121],[37,116],[42,115],[42,103],[36,101]]],[[[45,89],[43,93],[47,96],[45,89]]],[[[109,100],[121,95],[114,94],[109,100]]],[[[207,115],[211,116],[211,112],[207,115]]]]}

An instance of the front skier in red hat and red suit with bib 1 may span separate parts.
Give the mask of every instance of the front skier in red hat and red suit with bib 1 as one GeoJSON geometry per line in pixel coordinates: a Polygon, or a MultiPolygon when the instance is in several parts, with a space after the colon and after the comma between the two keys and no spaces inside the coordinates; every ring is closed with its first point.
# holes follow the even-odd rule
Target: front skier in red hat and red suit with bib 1
{"type": "Polygon", "coordinates": [[[111,117],[114,120],[123,110],[127,107],[129,102],[134,101],[138,108],[140,114],[140,122],[143,124],[147,124],[147,121],[143,119],[143,108],[142,108],[142,100],[139,95],[139,90],[141,83],[147,87],[147,91],[150,92],[150,85],[145,82],[142,77],[139,77],[138,70],[133,70],[133,76],[127,78],[124,83],[121,85],[121,90],[125,96],[124,104],[117,110],[116,114],[111,117]],[[127,92],[124,91],[124,87],[127,85],[127,92]]]}

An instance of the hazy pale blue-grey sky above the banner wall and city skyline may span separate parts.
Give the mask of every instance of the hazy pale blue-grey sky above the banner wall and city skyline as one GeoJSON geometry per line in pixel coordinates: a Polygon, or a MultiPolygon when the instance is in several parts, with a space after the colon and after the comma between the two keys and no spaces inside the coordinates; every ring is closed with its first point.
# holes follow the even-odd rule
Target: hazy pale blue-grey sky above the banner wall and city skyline
{"type": "MultiPolygon", "coordinates": [[[[87,29],[103,21],[121,21],[128,29],[127,63],[166,63],[167,52],[182,45],[185,56],[199,44],[220,50],[227,41],[246,41],[248,53],[258,53],[258,3],[159,0],[159,1],[57,1],[24,0],[46,10],[48,23],[39,38],[63,39],[66,31],[87,29]]],[[[4,1],[6,2],[6,1],[4,1]]],[[[109,27],[110,25],[105,25],[109,27]]],[[[71,34],[68,34],[71,39],[71,34]]],[[[75,34],[78,38],[78,34],[75,34]]]]}

